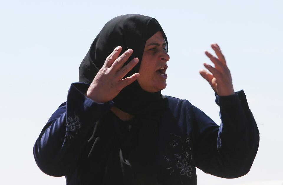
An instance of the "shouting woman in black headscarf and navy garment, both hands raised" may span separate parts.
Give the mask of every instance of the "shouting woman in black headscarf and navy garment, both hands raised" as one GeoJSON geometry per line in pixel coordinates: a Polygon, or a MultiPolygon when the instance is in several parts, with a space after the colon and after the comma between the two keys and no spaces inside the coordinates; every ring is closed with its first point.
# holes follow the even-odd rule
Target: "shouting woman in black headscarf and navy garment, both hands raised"
{"type": "Polygon", "coordinates": [[[259,131],[219,46],[212,45],[218,58],[206,52],[212,74],[200,74],[216,93],[220,127],[189,101],[161,95],[167,43],[151,17],[118,16],[103,27],[80,65],[80,83],[34,145],[43,172],[68,185],[177,185],[196,184],[195,167],[224,178],[249,171],[259,131]]]}

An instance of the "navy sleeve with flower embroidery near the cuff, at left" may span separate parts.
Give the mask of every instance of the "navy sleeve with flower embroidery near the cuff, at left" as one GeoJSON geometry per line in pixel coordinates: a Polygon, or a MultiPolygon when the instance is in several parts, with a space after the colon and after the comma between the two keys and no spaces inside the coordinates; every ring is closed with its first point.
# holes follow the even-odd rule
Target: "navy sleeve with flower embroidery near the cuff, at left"
{"type": "Polygon", "coordinates": [[[52,114],[33,148],[38,167],[51,176],[64,176],[77,165],[93,128],[113,105],[96,103],[84,93],[89,84],[73,83],[67,101],[52,114]]]}

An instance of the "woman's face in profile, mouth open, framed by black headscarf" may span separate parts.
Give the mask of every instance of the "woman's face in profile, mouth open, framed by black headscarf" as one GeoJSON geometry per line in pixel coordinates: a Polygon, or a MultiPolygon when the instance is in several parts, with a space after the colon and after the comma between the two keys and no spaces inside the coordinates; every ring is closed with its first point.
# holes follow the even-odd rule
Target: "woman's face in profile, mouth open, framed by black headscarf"
{"type": "Polygon", "coordinates": [[[165,46],[166,43],[161,31],[150,37],[145,44],[139,68],[140,76],[137,79],[144,91],[157,92],[166,87],[166,62],[170,57],[165,46]]]}

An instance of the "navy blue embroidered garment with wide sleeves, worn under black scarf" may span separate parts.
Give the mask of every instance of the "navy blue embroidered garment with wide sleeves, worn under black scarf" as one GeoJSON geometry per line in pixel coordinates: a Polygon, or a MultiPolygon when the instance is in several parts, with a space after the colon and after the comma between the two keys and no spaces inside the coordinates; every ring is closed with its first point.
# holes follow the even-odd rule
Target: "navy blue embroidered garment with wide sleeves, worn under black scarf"
{"type": "MultiPolygon", "coordinates": [[[[68,185],[81,184],[81,153],[96,122],[113,106],[113,101],[98,104],[87,98],[88,86],[71,84],[67,101],[52,114],[33,149],[39,168],[51,176],[66,176],[68,185]]],[[[195,167],[223,178],[249,172],[259,146],[259,130],[246,96],[243,90],[215,96],[220,126],[189,101],[166,96],[169,109],[159,125],[156,159],[158,173],[166,179],[163,184],[196,184],[195,167]]],[[[119,118],[116,121],[122,124],[119,118]]],[[[104,184],[101,179],[98,182],[104,184]]],[[[113,179],[113,184],[119,180],[113,179]]]]}

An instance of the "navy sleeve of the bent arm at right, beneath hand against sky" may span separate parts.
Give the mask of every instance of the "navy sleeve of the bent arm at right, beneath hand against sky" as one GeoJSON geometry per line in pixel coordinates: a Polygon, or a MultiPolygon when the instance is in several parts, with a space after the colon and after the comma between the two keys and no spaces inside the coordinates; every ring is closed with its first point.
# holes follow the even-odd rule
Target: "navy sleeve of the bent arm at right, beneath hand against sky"
{"type": "Polygon", "coordinates": [[[215,176],[240,177],[249,172],[254,161],[259,130],[243,90],[231,96],[215,96],[220,106],[220,126],[192,106],[195,164],[215,176]]]}

